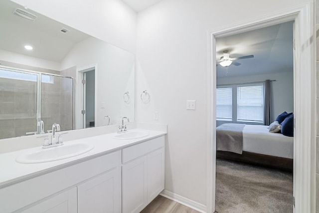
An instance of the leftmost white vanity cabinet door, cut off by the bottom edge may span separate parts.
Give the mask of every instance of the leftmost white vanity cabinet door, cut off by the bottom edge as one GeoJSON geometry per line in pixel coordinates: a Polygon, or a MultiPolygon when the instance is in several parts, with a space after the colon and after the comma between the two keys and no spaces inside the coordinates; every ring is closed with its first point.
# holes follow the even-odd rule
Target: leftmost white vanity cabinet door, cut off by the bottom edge
{"type": "Polygon", "coordinates": [[[76,187],[49,197],[20,213],[77,213],[76,187]]]}

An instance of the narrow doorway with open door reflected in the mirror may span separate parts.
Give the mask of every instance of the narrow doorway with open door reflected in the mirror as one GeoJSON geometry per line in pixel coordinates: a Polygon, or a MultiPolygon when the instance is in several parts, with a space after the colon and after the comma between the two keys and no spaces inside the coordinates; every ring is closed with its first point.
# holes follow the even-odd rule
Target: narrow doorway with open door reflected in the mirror
{"type": "Polygon", "coordinates": [[[83,128],[95,127],[95,68],[82,74],[83,84],[83,128]]]}

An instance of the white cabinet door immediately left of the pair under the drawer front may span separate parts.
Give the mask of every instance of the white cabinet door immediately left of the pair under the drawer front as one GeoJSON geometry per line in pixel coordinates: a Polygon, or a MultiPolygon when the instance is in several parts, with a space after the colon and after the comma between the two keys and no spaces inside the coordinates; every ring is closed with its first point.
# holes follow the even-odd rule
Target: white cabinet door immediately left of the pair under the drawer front
{"type": "Polygon", "coordinates": [[[121,213],[121,168],[116,167],[78,187],[78,213],[121,213]]]}

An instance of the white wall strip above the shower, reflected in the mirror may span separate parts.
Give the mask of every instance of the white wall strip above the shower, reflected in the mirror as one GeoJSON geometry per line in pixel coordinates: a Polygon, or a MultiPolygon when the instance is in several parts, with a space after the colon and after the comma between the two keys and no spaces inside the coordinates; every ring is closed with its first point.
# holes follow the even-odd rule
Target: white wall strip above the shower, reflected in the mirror
{"type": "Polygon", "coordinates": [[[60,71],[60,63],[0,49],[0,60],[60,71]]]}

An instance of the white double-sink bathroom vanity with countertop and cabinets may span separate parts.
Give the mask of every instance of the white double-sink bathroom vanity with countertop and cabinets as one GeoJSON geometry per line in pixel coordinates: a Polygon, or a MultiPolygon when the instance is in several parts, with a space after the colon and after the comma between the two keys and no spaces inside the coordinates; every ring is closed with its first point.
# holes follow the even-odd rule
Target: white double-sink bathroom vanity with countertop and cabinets
{"type": "Polygon", "coordinates": [[[45,163],[15,161],[38,148],[1,154],[0,212],[141,212],[164,189],[166,132],[147,132],[137,139],[117,139],[117,133],[110,133],[68,141],[65,145],[88,143],[94,148],[45,163]]]}

